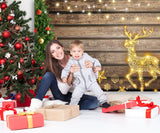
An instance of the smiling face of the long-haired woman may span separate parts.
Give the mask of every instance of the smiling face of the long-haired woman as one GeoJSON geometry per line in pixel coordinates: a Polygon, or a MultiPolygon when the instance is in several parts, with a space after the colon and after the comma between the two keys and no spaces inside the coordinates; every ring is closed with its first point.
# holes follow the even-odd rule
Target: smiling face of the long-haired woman
{"type": "Polygon", "coordinates": [[[58,45],[57,43],[53,43],[51,45],[50,52],[52,57],[57,60],[62,60],[64,58],[64,48],[58,45]]]}

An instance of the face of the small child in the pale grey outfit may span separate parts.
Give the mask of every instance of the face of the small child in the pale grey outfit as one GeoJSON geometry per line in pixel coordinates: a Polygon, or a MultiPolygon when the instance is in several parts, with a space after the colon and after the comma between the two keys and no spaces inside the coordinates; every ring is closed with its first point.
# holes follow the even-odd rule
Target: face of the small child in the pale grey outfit
{"type": "Polygon", "coordinates": [[[75,60],[79,60],[82,55],[83,55],[83,49],[81,47],[73,47],[71,50],[70,50],[70,54],[72,55],[72,57],[75,59],[75,60]]]}

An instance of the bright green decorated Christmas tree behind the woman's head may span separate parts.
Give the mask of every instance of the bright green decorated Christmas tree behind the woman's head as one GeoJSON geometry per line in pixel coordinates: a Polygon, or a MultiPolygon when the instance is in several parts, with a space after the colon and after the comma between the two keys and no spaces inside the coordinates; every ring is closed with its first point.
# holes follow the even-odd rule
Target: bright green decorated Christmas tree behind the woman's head
{"type": "Polygon", "coordinates": [[[45,60],[45,50],[47,43],[54,39],[52,32],[51,19],[48,18],[48,6],[44,0],[35,0],[35,33],[37,34],[35,42],[35,50],[37,50],[36,58],[45,60]]]}

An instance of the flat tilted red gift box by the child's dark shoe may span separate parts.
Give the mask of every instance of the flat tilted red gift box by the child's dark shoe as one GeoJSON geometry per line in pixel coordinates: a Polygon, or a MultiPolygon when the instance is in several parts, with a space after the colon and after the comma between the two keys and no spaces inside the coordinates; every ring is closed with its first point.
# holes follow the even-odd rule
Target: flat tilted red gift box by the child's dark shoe
{"type": "Polygon", "coordinates": [[[137,102],[135,100],[133,100],[133,101],[128,101],[128,102],[123,103],[123,104],[111,106],[109,108],[102,108],[102,112],[103,113],[113,112],[113,111],[122,110],[122,109],[125,109],[125,108],[132,108],[132,107],[135,107],[135,106],[137,106],[137,102]]]}

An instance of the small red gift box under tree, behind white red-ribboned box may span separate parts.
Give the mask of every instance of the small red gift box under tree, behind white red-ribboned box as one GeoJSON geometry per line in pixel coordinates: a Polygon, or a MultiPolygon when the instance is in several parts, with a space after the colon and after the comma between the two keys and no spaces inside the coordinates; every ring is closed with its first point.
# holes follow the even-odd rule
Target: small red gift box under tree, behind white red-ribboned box
{"type": "Polygon", "coordinates": [[[16,108],[17,107],[17,103],[16,100],[4,100],[2,101],[2,107],[11,107],[11,108],[16,108]]]}

